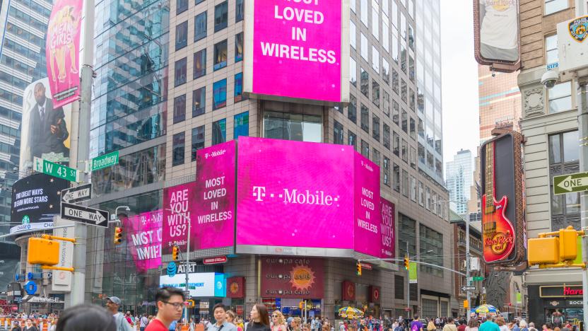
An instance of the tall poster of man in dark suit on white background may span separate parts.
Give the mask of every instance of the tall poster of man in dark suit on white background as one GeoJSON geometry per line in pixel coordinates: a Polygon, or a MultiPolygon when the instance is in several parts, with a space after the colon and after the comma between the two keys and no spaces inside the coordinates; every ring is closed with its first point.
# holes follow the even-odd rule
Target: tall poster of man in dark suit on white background
{"type": "Polygon", "coordinates": [[[71,129],[71,104],[54,107],[49,79],[40,79],[25,88],[23,120],[20,124],[20,166],[33,158],[67,163],[71,129]]]}

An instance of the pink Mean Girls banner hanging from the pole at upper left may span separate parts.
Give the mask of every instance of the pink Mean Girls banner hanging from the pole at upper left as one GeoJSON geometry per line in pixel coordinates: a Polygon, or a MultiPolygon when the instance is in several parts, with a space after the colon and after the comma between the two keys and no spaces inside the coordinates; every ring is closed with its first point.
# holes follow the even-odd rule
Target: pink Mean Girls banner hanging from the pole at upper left
{"type": "Polygon", "coordinates": [[[54,108],[72,103],[80,95],[82,6],[81,0],[56,0],[49,16],[45,55],[54,108]]]}

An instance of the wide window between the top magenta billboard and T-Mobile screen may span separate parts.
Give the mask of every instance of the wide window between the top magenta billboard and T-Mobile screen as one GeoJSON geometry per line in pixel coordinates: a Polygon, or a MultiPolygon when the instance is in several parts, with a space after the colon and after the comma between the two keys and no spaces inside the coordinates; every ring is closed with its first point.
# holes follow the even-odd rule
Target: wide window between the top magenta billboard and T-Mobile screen
{"type": "Polygon", "coordinates": [[[295,141],[322,141],[322,117],[290,112],[264,112],[264,137],[295,141]]]}

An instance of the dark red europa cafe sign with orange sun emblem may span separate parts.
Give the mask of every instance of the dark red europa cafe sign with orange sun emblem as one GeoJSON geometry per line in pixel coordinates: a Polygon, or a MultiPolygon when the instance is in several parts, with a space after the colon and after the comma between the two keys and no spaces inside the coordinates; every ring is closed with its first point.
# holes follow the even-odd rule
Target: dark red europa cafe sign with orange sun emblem
{"type": "Polygon", "coordinates": [[[305,257],[261,257],[264,298],[323,298],[324,262],[305,257]]]}

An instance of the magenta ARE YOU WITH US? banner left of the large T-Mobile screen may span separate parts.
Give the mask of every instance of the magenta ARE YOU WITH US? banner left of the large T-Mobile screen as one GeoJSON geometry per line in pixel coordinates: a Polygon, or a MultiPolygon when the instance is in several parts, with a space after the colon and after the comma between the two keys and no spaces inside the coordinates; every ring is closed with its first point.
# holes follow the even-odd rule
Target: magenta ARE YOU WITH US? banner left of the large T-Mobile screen
{"type": "MultiPolygon", "coordinates": [[[[163,190],[163,242],[162,254],[171,254],[172,246],[177,245],[186,251],[188,238],[188,219],[191,219],[192,201],[196,182],[168,187],[163,190]]],[[[194,224],[194,221],[191,222],[194,224]]]]}

